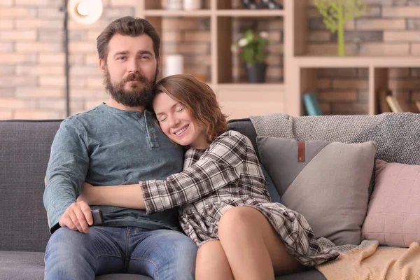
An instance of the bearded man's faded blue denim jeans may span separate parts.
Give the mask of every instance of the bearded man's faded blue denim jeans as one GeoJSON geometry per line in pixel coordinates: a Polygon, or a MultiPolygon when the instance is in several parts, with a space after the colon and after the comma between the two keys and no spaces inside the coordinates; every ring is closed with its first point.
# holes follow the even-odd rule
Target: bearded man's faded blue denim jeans
{"type": "Polygon", "coordinates": [[[81,233],[59,228],[45,250],[45,280],[110,273],[194,279],[196,255],[193,240],[174,230],[92,227],[81,233]]]}

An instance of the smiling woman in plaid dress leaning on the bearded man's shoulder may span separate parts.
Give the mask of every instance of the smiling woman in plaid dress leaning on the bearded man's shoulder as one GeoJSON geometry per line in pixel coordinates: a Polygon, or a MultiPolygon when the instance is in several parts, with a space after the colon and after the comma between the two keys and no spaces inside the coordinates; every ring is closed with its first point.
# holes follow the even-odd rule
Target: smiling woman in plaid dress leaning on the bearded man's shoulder
{"type": "Polygon", "coordinates": [[[85,183],[81,200],[146,214],[181,207],[181,227],[199,246],[197,280],[274,279],[337,258],[318,244],[302,215],[270,202],[251,141],[226,131],[226,117],[208,85],[174,75],[158,80],[155,92],[162,132],[189,148],[183,171],[134,185],[85,183]]]}

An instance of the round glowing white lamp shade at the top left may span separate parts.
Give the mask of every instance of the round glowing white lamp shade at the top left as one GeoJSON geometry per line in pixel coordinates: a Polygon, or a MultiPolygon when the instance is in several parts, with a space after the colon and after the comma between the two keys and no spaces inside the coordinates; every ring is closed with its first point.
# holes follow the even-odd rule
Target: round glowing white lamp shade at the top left
{"type": "Polygon", "coordinates": [[[102,0],[69,0],[67,10],[71,18],[83,25],[90,25],[101,18],[102,0]]]}

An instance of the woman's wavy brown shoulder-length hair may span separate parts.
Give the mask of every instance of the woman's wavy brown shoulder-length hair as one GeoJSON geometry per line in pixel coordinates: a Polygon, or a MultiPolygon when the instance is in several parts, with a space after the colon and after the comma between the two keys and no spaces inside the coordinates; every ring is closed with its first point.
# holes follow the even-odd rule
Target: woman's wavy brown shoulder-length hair
{"type": "Polygon", "coordinates": [[[216,94],[206,83],[194,76],[172,75],[158,80],[155,93],[165,92],[179,102],[204,128],[210,144],[227,130],[226,116],[218,105],[216,94]]]}

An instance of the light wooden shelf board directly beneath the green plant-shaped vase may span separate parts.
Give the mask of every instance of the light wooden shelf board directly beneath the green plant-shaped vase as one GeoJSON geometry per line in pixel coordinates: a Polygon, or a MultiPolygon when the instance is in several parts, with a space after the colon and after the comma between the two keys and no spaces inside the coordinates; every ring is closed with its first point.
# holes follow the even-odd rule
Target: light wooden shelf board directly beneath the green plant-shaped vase
{"type": "Polygon", "coordinates": [[[420,57],[295,57],[298,66],[306,68],[418,67],[420,57]]]}

